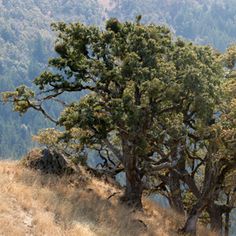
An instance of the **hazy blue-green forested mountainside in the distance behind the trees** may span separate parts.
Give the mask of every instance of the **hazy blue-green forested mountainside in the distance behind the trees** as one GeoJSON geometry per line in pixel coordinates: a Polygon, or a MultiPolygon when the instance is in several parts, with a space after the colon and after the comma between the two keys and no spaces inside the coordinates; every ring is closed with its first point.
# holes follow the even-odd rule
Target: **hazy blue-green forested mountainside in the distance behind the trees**
{"type": "MultiPolygon", "coordinates": [[[[53,53],[54,21],[102,25],[106,17],[168,24],[176,35],[225,50],[236,39],[235,0],[2,0],[0,1],[0,91],[30,84],[53,53]]],[[[57,108],[52,108],[57,112],[57,108]]],[[[31,134],[51,126],[43,117],[23,117],[0,104],[0,156],[18,158],[31,134]]]]}

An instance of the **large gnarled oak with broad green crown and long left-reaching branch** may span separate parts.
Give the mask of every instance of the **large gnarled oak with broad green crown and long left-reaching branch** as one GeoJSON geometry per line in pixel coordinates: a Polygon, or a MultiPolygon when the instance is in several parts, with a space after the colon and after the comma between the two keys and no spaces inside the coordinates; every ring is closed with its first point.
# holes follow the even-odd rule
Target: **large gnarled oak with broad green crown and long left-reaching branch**
{"type": "Polygon", "coordinates": [[[42,112],[65,128],[67,138],[79,131],[80,151],[109,150],[103,158],[114,169],[124,167],[122,200],[140,208],[146,177],[178,166],[192,122],[212,117],[222,77],[216,55],[174,40],[166,27],[142,25],[140,17],[135,23],[110,19],[105,30],[80,23],[53,29],[59,56],[34,80],[41,92],[21,86],[4,99],[14,102],[15,111],[42,112]],[[44,102],[66,92],[87,95],[52,118],[44,102]]]}

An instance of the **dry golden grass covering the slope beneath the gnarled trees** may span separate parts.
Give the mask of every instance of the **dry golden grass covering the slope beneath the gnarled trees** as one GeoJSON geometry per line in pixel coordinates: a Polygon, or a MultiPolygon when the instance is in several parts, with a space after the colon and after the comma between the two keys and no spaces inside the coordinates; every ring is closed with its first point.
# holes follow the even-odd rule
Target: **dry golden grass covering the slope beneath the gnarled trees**
{"type": "MultiPolygon", "coordinates": [[[[0,162],[0,235],[177,235],[181,217],[144,199],[144,212],[119,204],[121,190],[86,172],[42,176],[0,162]],[[111,199],[111,194],[119,192],[111,199]]],[[[207,232],[200,231],[200,235],[207,232]]]]}

